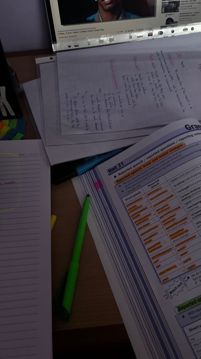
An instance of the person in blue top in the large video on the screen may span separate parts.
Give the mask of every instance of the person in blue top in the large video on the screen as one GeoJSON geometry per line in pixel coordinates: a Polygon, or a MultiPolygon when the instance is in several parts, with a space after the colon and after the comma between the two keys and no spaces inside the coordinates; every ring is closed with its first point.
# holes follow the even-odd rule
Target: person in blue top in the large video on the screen
{"type": "Polygon", "coordinates": [[[87,21],[101,22],[123,19],[137,19],[140,16],[134,15],[122,9],[121,0],[95,0],[98,3],[96,14],[89,16],[87,21]]]}

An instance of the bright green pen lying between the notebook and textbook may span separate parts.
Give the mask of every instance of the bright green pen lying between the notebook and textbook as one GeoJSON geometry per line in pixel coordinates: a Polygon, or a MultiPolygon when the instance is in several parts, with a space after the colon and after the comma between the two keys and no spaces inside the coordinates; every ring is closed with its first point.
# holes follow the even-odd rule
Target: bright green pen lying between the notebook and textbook
{"type": "Polygon", "coordinates": [[[69,265],[68,272],[65,274],[58,295],[58,312],[63,320],[68,321],[73,302],[75,284],[79,269],[79,258],[82,250],[84,232],[87,223],[87,214],[89,209],[89,195],[85,198],[82,213],[78,225],[78,230],[73,248],[73,255],[69,265]]]}

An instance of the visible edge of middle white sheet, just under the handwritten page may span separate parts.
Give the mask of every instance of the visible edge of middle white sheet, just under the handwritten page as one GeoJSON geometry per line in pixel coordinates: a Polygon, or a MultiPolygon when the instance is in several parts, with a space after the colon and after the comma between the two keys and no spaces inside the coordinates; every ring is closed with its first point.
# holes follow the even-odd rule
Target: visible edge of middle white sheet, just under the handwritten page
{"type": "Polygon", "coordinates": [[[67,134],[62,136],[60,134],[57,62],[54,61],[46,64],[41,64],[40,78],[43,94],[41,101],[43,101],[44,108],[46,146],[111,141],[137,136],[146,136],[153,131],[156,131],[155,127],[150,127],[146,129],[136,129],[130,131],[116,131],[112,133],[95,133],[93,135],[86,132],[85,134],[67,134]]]}

